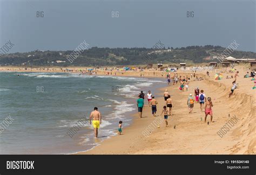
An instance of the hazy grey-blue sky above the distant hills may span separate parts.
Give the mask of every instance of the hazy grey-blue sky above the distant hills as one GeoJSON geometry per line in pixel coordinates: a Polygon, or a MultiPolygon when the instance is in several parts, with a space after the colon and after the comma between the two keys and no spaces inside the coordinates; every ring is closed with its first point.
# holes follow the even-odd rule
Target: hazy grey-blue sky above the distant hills
{"type": "Polygon", "coordinates": [[[0,47],[9,53],[90,47],[220,45],[255,48],[255,0],[0,0],[0,47]],[[37,17],[43,11],[44,17],[37,17]],[[112,17],[118,11],[119,17],[112,17]],[[187,17],[193,11],[194,17],[187,17]]]}

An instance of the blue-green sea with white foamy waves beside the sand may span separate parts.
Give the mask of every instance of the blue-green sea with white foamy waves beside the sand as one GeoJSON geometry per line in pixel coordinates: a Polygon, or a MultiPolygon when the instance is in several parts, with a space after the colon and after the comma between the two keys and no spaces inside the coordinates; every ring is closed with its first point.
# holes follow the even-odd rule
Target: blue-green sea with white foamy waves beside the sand
{"type": "Polygon", "coordinates": [[[120,120],[124,128],[131,123],[140,90],[154,94],[165,83],[122,76],[0,72],[0,154],[92,149],[116,135],[120,120]],[[94,107],[103,118],[98,139],[93,138],[89,122],[83,119],[82,125],[77,125],[81,118],[89,118],[94,107]],[[3,127],[6,117],[14,121],[3,127]],[[79,126],[76,134],[67,134],[74,126],[79,126]]]}

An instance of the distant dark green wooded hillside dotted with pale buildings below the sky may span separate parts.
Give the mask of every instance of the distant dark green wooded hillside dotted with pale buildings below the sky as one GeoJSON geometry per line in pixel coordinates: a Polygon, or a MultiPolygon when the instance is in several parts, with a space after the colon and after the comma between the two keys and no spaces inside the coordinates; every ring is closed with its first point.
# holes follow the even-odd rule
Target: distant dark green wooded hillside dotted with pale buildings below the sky
{"type": "MultiPolygon", "coordinates": [[[[188,46],[181,48],[98,48],[85,50],[70,63],[66,58],[72,51],[32,51],[0,55],[0,65],[14,66],[112,66],[157,63],[210,62],[226,48],[221,46],[188,46]]],[[[234,51],[234,58],[256,58],[254,52],[234,51]]]]}

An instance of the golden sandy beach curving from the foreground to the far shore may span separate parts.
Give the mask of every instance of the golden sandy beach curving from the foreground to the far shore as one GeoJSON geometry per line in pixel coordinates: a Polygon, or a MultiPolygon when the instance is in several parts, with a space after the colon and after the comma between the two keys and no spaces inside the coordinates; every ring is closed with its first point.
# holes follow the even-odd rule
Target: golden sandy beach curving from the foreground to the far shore
{"type": "MultiPolygon", "coordinates": [[[[255,138],[255,109],[256,109],[256,93],[252,90],[253,81],[251,78],[243,78],[247,70],[244,67],[235,67],[240,73],[237,78],[238,88],[234,90],[234,94],[228,99],[228,94],[234,79],[225,79],[226,76],[234,75],[234,73],[223,73],[222,80],[214,80],[213,71],[210,76],[206,75],[206,71],[197,72],[198,77],[204,78],[201,81],[190,81],[190,88],[186,92],[179,90],[179,83],[166,87],[171,94],[173,100],[172,116],[169,117],[169,127],[165,127],[162,122],[159,128],[153,129],[149,137],[145,137],[143,132],[156,119],[151,114],[151,107],[147,105],[143,109],[143,118],[139,118],[137,113],[131,117],[133,123],[123,129],[121,136],[114,136],[106,139],[103,143],[92,150],[79,152],[77,154],[255,154],[256,138],[255,138]],[[194,104],[193,113],[188,114],[187,97],[194,94],[194,89],[199,87],[203,89],[206,96],[210,96],[213,102],[213,122],[210,122],[210,116],[207,122],[204,122],[205,113],[200,111],[199,103],[194,104]],[[231,129],[220,137],[217,132],[235,116],[238,122],[231,129]],[[201,120],[202,118],[202,120],[201,120]],[[175,128],[174,128],[175,126],[175,128]]],[[[69,69],[79,69],[78,67],[70,67],[69,69]]],[[[17,71],[17,72],[62,72],[60,68],[38,69],[32,68],[25,70],[18,67],[1,67],[0,71],[17,71]]],[[[73,72],[76,73],[76,72],[73,72]]],[[[97,71],[97,75],[106,75],[107,71],[97,71]]],[[[161,77],[160,71],[155,71],[154,77],[161,77]]],[[[188,75],[191,72],[177,72],[178,75],[188,75]]],[[[117,76],[153,76],[153,71],[117,73],[117,76]]],[[[166,77],[166,72],[163,78],[166,77]]],[[[171,73],[173,76],[173,73],[171,73]]],[[[158,95],[163,96],[164,90],[159,89],[158,95]]],[[[145,89],[144,92],[147,92],[145,89]]],[[[139,93],[139,92],[138,92],[139,93]]],[[[153,94],[156,95],[156,94],[153,94]]],[[[159,117],[164,106],[164,97],[156,99],[157,117],[159,117]]],[[[135,103],[135,100],[134,100],[135,103]]],[[[137,111],[137,110],[136,110],[137,111]]],[[[162,116],[163,117],[163,116],[162,116]]],[[[100,129],[99,129],[100,135],[100,129]]]]}

